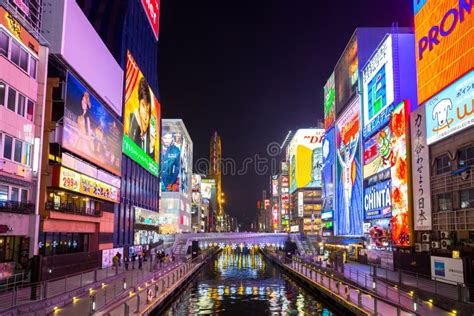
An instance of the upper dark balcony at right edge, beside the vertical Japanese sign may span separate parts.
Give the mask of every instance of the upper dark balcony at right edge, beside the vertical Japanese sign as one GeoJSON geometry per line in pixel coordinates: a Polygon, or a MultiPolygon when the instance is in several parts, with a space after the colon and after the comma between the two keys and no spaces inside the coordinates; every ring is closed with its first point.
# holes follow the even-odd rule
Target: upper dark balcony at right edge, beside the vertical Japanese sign
{"type": "Polygon", "coordinates": [[[431,194],[474,188],[474,166],[431,177],[431,194]]]}

